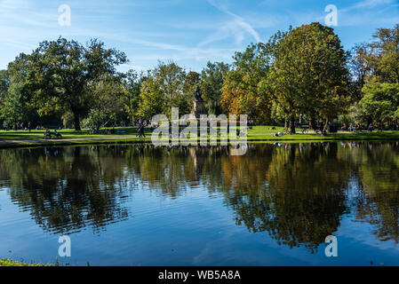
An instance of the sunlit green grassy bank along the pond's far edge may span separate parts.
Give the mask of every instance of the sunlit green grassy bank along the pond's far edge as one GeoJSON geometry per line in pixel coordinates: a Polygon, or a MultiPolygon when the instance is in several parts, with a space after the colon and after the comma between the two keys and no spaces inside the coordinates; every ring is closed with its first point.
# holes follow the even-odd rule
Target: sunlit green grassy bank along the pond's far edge
{"type": "MultiPolygon", "coordinates": [[[[116,143],[148,143],[151,141],[151,131],[146,129],[146,137],[138,138],[137,129],[116,128],[122,134],[96,134],[90,135],[89,130],[60,130],[62,138],[44,139],[44,130],[0,130],[0,147],[15,146],[61,146],[61,145],[87,145],[87,144],[116,144],[116,143]]],[[[339,132],[322,136],[315,133],[273,136],[277,132],[283,132],[283,127],[271,130],[270,126],[255,126],[248,130],[249,142],[273,142],[273,141],[393,141],[399,140],[399,131],[358,131],[339,132]]]]}

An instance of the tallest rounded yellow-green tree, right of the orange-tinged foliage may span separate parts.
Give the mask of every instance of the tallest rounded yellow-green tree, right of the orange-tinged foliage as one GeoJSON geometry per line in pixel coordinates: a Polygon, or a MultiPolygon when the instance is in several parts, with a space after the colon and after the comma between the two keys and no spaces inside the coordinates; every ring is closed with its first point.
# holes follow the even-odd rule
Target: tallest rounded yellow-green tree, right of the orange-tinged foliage
{"type": "Polygon", "coordinates": [[[275,60],[261,85],[283,109],[290,132],[299,114],[327,126],[347,103],[347,53],[339,37],[315,22],[277,33],[270,43],[275,60]]]}

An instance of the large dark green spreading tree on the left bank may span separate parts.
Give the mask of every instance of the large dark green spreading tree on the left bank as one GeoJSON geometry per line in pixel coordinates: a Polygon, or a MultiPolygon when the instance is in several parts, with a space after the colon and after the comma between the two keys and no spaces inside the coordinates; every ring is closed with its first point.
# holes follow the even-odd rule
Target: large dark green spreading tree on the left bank
{"type": "Polygon", "coordinates": [[[74,115],[75,130],[80,130],[80,119],[92,106],[89,85],[114,75],[116,66],[127,62],[124,52],[106,49],[97,39],[84,46],[61,37],[40,43],[28,59],[31,99],[39,114],[68,110],[74,115]]]}

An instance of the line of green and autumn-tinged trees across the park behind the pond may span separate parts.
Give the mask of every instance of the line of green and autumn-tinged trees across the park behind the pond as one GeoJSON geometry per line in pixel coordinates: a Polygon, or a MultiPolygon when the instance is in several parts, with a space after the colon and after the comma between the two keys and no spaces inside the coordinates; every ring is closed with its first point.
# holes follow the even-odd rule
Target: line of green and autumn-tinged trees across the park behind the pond
{"type": "Polygon", "coordinates": [[[0,122],[80,130],[170,115],[172,106],[188,114],[200,86],[210,114],[248,114],[258,123],[285,123],[291,133],[304,123],[399,123],[399,24],[351,51],[320,23],[290,27],[233,59],[208,62],[201,73],[172,61],[121,73],[124,52],[97,39],[44,41],[0,70],[0,122]]]}

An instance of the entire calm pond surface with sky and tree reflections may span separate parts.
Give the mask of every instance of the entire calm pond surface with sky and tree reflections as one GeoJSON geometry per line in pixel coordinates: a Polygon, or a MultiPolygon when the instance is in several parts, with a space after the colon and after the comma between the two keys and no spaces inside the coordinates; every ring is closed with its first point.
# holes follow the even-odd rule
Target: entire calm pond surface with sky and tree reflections
{"type": "Polygon", "coordinates": [[[398,241],[398,142],[0,150],[0,258],[399,265],[398,241]]]}

